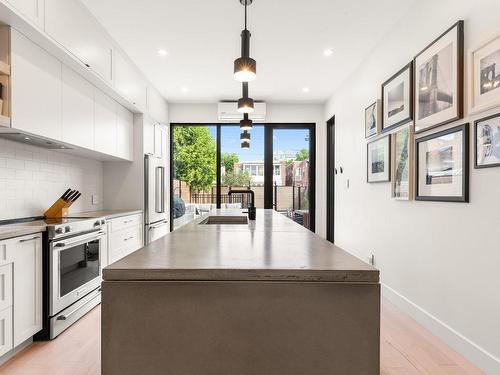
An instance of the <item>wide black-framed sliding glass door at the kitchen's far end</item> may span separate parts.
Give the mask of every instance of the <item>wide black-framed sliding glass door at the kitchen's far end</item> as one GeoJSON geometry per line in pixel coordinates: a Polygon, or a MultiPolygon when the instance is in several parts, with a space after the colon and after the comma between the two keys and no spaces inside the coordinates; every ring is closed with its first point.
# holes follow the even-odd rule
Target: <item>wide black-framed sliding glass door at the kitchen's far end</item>
{"type": "Polygon", "coordinates": [[[314,231],[314,124],[254,125],[241,148],[238,124],[171,125],[171,229],[215,208],[274,209],[314,231]]]}

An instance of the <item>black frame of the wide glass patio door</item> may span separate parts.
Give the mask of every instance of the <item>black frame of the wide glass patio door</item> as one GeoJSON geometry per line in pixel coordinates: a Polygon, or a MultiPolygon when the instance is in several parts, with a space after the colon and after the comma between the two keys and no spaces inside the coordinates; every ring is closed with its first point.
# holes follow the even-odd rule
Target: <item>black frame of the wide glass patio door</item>
{"type": "MultiPolygon", "coordinates": [[[[309,129],[309,229],[316,229],[316,124],[314,123],[255,123],[264,126],[264,208],[273,208],[273,130],[274,129],[309,129]]],[[[221,128],[239,126],[239,123],[170,123],[170,231],[174,229],[174,148],[173,129],[176,126],[215,126],[216,132],[216,207],[221,207],[221,128]]]]}

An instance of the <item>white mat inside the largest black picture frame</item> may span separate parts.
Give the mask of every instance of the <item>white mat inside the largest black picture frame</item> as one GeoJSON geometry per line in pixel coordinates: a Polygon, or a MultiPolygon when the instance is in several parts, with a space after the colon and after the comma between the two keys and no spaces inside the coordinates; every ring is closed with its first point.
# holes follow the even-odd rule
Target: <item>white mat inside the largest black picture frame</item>
{"type": "Polygon", "coordinates": [[[457,56],[458,56],[458,43],[457,43],[457,26],[455,26],[453,29],[448,31],[446,35],[442,36],[438,41],[436,41],[432,46],[430,46],[427,50],[425,50],[420,56],[418,56],[415,59],[415,131],[420,131],[423,129],[426,129],[428,127],[434,126],[436,124],[440,124],[442,122],[445,122],[449,120],[450,118],[456,117],[458,113],[458,92],[457,92],[457,78],[458,78],[458,73],[457,73],[457,66],[458,66],[458,61],[457,61],[457,56]],[[427,116],[423,119],[418,118],[418,114],[420,113],[420,102],[418,100],[419,95],[418,93],[420,92],[420,67],[422,64],[424,64],[427,60],[429,60],[432,56],[435,54],[439,53],[442,49],[446,48],[447,46],[452,43],[452,83],[451,86],[453,87],[452,91],[452,97],[453,97],[453,104],[451,107],[440,111],[438,113],[435,113],[433,115],[427,116]]]}

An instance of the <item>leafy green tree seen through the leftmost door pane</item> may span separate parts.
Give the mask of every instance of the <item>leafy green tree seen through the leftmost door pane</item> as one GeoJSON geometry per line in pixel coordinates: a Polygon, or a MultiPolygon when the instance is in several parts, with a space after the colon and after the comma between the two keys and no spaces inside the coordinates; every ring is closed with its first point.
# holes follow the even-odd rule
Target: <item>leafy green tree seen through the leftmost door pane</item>
{"type": "Polygon", "coordinates": [[[175,176],[194,192],[207,191],[215,181],[215,141],[205,126],[174,127],[175,176]]]}

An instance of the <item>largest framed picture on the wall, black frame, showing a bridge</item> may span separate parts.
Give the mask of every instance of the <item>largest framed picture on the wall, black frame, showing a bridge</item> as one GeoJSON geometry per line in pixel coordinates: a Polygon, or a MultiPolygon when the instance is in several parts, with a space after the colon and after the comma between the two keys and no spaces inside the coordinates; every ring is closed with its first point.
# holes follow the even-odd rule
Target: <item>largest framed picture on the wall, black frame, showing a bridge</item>
{"type": "Polygon", "coordinates": [[[463,117],[464,22],[459,21],[414,59],[415,132],[463,117]]]}

